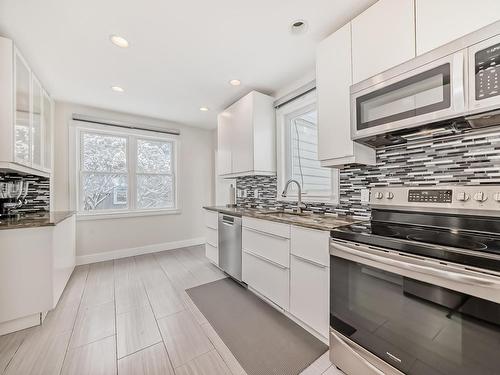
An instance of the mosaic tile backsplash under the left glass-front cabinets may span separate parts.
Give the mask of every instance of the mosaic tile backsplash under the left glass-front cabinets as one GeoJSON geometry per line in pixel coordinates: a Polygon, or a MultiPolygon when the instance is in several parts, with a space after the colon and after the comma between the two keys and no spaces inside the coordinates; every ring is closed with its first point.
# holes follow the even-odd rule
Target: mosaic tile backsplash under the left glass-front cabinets
{"type": "Polygon", "coordinates": [[[27,203],[17,212],[34,213],[50,210],[50,180],[39,176],[23,176],[16,173],[0,173],[0,182],[17,181],[23,179],[29,181],[27,203]]]}

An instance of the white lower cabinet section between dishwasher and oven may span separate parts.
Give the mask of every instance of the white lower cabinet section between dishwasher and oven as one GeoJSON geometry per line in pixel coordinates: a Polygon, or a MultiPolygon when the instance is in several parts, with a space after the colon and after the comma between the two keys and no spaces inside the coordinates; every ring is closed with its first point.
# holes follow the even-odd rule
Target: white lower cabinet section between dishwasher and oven
{"type": "Polygon", "coordinates": [[[243,217],[243,281],[328,340],[330,233],[243,217]]]}

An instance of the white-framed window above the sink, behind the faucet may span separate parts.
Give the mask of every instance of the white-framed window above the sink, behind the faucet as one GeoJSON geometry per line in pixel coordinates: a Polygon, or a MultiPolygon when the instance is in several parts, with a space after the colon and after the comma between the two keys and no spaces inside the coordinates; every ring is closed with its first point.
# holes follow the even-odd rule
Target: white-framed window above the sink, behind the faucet
{"type": "MultiPolygon", "coordinates": [[[[318,160],[317,114],[315,91],[276,111],[278,193],[288,180],[294,179],[302,187],[303,201],[335,204],[338,203],[338,171],[321,167],[318,160]]],[[[287,199],[297,200],[295,185],[290,185],[287,199]]]]}

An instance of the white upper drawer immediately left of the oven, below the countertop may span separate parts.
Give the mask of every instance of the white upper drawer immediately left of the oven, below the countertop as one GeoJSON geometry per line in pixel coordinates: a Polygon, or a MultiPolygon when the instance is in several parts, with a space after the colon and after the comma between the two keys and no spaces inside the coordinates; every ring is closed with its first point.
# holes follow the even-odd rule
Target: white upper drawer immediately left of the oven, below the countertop
{"type": "Polygon", "coordinates": [[[324,266],[330,265],[330,233],[324,230],[292,226],[290,252],[324,266]]]}

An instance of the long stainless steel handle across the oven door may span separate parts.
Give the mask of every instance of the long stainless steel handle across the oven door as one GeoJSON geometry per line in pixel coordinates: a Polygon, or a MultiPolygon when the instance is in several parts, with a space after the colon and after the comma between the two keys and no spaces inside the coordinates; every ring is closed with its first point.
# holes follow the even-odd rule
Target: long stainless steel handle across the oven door
{"type": "Polygon", "coordinates": [[[399,269],[418,272],[430,276],[436,276],[443,279],[457,281],[460,283],[465,283],[473,286],[482,286],[482,287],[500,289],[500,282],[485,277],[474,276],[467,274],[465,272],[457,272],[457,270],[449,271],[435,267],[422,266],[420,264],[410,263],[409,261],[406,260],[405,261],[394,260],[391,259],[390,257],[383,257],[380,255],[375,255],[370,253],[369,247],[357,246],[359,249],[363,249],[364,250],[363,251],[363,250],[353,249],[349,246],[341,245],[337,242],[332,242],[332,245],[338,251],[355,255],[363,259],[371,260],[373,262],[393,266],[399,269]]]}

